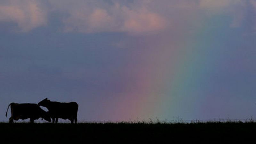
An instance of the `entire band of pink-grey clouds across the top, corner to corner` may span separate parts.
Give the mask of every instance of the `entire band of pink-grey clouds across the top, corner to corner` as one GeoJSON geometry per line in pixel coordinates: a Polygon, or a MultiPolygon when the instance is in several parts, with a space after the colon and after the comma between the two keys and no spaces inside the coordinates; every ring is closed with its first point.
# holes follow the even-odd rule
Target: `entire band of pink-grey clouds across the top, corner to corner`
{"type": "MultiPolygon", "coordinates": [[[[256,7],[256,2],[250,0],[256,7]]],[[[64,32],[144,34],[200,25],[205,17],[227,15],[230,27],[244,20],[243,0],[4,0],[0,22],[17,23],[21,31],[46,26],[57,13],[64,32]]]]}

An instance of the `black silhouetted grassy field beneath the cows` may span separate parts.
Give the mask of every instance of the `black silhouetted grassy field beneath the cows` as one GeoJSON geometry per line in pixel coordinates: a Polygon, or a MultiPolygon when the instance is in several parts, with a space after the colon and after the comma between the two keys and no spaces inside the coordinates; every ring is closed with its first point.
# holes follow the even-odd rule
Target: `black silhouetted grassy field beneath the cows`
{"type": "Polygon", "coordinates": [[[255,143],[255,122],[0,123],[1,143],[255,143]]]}

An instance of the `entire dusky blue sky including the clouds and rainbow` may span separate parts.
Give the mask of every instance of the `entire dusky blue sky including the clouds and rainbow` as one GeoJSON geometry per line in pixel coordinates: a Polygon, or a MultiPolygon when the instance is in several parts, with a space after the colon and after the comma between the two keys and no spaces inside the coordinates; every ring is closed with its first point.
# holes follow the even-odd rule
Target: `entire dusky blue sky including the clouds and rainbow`
{"type": "Polygon", "coordinates": [[[45,98],[78,121],[255,118],[255,40],[256,0],[1,0],[0,121],[45,98]]]}

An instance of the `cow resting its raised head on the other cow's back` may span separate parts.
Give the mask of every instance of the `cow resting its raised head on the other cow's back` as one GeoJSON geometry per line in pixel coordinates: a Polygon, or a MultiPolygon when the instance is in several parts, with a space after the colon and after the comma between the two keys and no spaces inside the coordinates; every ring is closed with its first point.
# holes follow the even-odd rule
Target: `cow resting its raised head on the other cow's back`
{"type": "Polygon", "coordinates": [[[46,107],[49,110],[50,116],[52,118],[52,123],[58,123],[58,119],[68,119],[71,124],[77,122],[77,110],[78,104],[76,102],[57,102],[50,101],[47,98],[40,101],[38,105],[46,107]]]}

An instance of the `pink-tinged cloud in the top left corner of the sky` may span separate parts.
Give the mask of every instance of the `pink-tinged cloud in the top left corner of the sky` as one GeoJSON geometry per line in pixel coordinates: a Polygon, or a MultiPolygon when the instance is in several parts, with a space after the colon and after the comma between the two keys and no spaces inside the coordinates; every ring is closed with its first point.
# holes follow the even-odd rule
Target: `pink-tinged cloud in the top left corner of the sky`
{"type": "Polygon", "coordinates": [[[23,32],[47,24],[47,12],[36,0],[9,0],[0,5],[0,22],[14,22],[23,32]]]}

